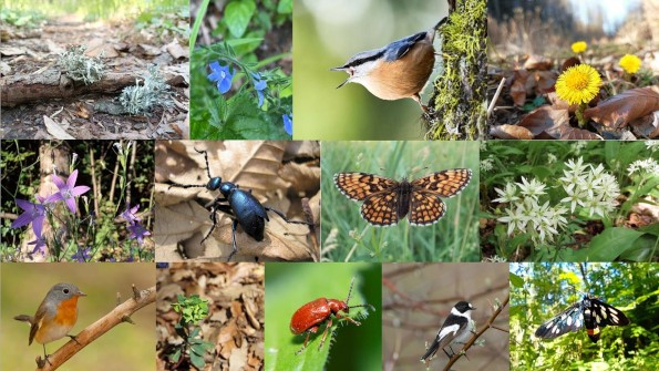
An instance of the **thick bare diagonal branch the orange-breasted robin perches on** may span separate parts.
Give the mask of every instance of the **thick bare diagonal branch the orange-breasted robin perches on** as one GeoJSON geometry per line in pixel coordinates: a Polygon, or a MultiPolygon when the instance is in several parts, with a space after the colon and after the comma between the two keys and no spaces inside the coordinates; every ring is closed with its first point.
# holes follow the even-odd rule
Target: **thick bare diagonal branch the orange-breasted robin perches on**
{"type": "Polygon", "coordinates": [[[49,355],[49,362],[45,362],[41,360],[41,358],[39,358],[38,360],[41,360],[45,364],[42,368],[39,368],[38,362],[37,370],[56,370],[71,357],[81,351],[92,341],[100,338],[105,332],[110,331],[113,327],[122,322],[128,322],[131,315],[142,309],[143,307],[152,302],[155,302],[155,286],[150,287],[146,290],[137,291],[135,289],[135,286],[133,285],[133,298],[124,301],[122,305],[114,308],[114,310],[112,310],[110,313],[105,315],[96,322],[87,326],[86,329],[82,330],[78,336],[75,336],[75,340],[69,341],[62,348],[58,349],[56,352],[49,355]]]}

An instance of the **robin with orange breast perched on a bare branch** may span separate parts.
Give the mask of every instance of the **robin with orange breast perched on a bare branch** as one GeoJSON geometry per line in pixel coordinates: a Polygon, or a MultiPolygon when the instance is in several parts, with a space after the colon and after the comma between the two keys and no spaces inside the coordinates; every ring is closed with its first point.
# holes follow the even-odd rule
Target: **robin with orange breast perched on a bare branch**
{"type": "Polygon", "coordinates": [[[58,284],[48,291],[45,298],[39,305],[34,317],[20,315],[13,318],[31,324],[28,344],[32,344],[32,340],[37,340],[37,342],[43,344],[43,357],[47,361],[47,342],[55,341],[63,337],[69,337],[76,341],[75,337],[68,332],[78,320],[78,298],[85,296],[75,285],[58,284]]]}

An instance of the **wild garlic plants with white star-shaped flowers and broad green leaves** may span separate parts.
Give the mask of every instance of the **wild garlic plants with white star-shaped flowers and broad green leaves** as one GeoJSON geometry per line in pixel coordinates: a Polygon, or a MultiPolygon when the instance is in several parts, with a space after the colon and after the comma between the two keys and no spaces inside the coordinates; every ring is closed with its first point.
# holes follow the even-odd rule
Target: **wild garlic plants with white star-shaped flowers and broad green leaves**
{"type": "Polygon", "coordinates": [[[482,145],[485,249],[533,261],[655,261],[659,223],[635,221],[659,199],[653,142],[490,142],[482,145]],[[642,207],[642,205],[641,205],[642,207]]]}

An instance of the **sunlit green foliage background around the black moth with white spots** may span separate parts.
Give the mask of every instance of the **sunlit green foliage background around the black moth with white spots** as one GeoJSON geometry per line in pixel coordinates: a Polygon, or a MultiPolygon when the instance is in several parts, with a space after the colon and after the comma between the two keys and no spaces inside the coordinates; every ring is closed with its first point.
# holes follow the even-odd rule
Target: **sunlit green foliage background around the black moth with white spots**
{"type": "Polygon", "coordinates": [[[653,264],[511,264],[511,370],[657,370],[658,277],[653,264]],[[631,323],[601,329],[597,343],[585,329],[535,338],[584,292],[622,310],[631,323]]]}

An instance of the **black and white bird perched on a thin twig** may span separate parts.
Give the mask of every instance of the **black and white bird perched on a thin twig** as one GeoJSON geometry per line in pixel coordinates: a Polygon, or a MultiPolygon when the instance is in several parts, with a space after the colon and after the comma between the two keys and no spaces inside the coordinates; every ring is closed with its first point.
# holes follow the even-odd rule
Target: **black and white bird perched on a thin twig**
{"type": "MultiPolygon", "coordinates": [[[[430,344],[425,354],[421,357],[421,361],[425,361],[428,358],[433,357],[437,350],[450,347],[454,343],[464,343],[471,336],[472,326],[472,310],[474,308],[466,301],[460,301],[451,309],[451,315],[442,324],[435,340],[430,344]]],[[[446,352],[444,350],[444,352],[446,352]]],[[[449,353],[446,353],[449,355],[449,353]]]]}

